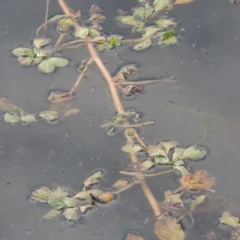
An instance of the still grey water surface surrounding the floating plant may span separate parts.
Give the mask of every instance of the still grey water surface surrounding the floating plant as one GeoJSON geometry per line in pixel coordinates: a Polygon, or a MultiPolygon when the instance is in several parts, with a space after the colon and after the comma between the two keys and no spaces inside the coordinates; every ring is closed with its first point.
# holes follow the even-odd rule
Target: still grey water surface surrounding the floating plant
{"type": "MultiPolygon", "coordinates": [[[[81,8],[83,14],[94,3],[68,1],[73,9],[81,8]]],[[[114,19],[117,9],[131,9],[135,1],[101,0],[97,4],[108,19],[114,19]]],[[[173,139],[187,146],[201,140],[209,154],[204,161],[190,166],[193,170],[211,172],[217,182],[216,198],[237,206],[240,206],[239,7],[224,0],[196,0],[176,6],[170,16],[180,20],[178,45],[152,47],[139,53],[133,52],[131,46],[117,50],[120,59],[139,66],[138,78],[173,76],[177,80],[149,85],[144,94],[123,100],[124,108],[142,112],[144,121],[155,120],[154,125],[140,130],[146,143],[173,139]],[[207,135],[201,139],[204,130],[207,135]]],[[[70,66],[50,75],[17,64],[10,50],[30,44],[44,20],[44,12],[45,1],[0,3],[0,96],[29,112],[49,107],[46,97],[51,90],[68,90],[78,76],[76,66],[88,57],[86,49],[66,51],[64,56],[71,59],[70,66]]],[[[59,12],[57,1],[50,1],[49,14],[59,12]]],[[[115,20],[106,21],[104,27],[106,32],[132,36],[128,28],[116,25],[115,20]]],[[[58,38],[52,26],[47,35],[53,40],[58,38]]],[[[124,65],[114,52],[100,56],[112,74],[124,65]]],[[[42,185],[51,188],[55,183],[80,190],[85,177],[95,169],[105,172],[100,187],[107,189],[122,177],[119,170],[129,164],[127,155],[121,151],[125,144],[123,134],[110,138],[99,128],[104,119],[115,114],[115,109],[96,66],[91,67],[78,88],[73,107],[79,108],[80,113],[57,125],[40,123],[25,127],[1,123],[0,239],[121,240],[128,231],[139,232],[148,240],[157,239],[153,234],[154,214],[139,186],[88,212],[76,225],[59,217],[42,219],[49,209],[28,200],[31,192],[42,185]],[[92,92],[92,88],[96,91],[92,92]]],[[[158,201],[163,200],[164,191],[178,188],[175,174],[147,182],[158,201]]],[[[204,205],[209,211],[204,212],[203,207],[196,214],[195,227],[187,231],[187,240],[206,239],[211,230],[223,234],[217,228],[220,213],[214,210],[215,203],[209,200],[204,205]]],[[[231,210],[234,213],[236,208],[231,210]]]]}

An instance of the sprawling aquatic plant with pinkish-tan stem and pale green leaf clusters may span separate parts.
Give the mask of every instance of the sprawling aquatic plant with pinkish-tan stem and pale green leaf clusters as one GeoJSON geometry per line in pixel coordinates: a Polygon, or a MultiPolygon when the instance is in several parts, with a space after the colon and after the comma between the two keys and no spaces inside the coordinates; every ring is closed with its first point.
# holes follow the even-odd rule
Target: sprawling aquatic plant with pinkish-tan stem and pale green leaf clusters
{"type": "MultiPolygon", "coordinates": [[[[58,215],[63,215],[66,219],[74,223],[84,216],[87,211],[96,209],[98,204],[108,204],[115,200],[121,192],[129,190],[135,185],[140,185],[155,215],[154,233],[158,239],[183,240],[185,231],[180,220],[185,216],[190,216],[193,226],[194,219],[192,212],[204,203],[207,194],[204,190],[215,184],[215,179],[205,170],[189,171],[188,162],[203,159],[207,156],[207,151],[197,145],[179,147],[178,143],[172,141],[160,141],[152,145],[144,143],[139,136],[136,127],[153,124],[154,121],[141,122],[140,114],[136,111],[125,111],[119,98],[120,93],[125,97],[132,97],[144,92],[144,85],[161,81],[174,81],[172,78],[154,79],[146,81],[127,81],[128,78],[137,73],[135,64],[127,64],[113,77],[103,64],[98,55],[98,51],[108,51],[121,46],[122,44],[133,44],[135,51],[142,51],[152,45],[170,46],[177,43],[177,21],[163,13],[170,11],[175,4],[190,3],[193,0],[138,0],[137,6],[132,9],[131,14],[123,10],[118,11],[117,19],[120,23],[132,27],[136,33],[136,39],[125,39],[123,36],[112,34],[106,35],[102,32],[101,22],[106,19],[102,14],[102,9],[97,5],[91,6],[87,19],[82,16],[81,11],[71,10],[64,0],[58,0],[63,14],[58,14],[48,19],[47,0],[45,22],[37,29],[36,38],[32,46],[18,47],[12,50],[12,54],[18,57],[18,62],[22,66],[37,65],[38,70],[44,73],[52,73],[58,67],[66,67],[69,61],[59,55],[58,50],[64,48],[79,48],[87,46],[90,57],[84,60],[78,70],[79,77],[70,90],[52,91],[47,100],[51,103],[48,110],[35,114],[26,113],[22,108],[14,105],[6,98],[0,99],[0,109],[5,112],[4,121],[11,124],[22,122],[23,124],[33,124],[40,119],[49,123],[58,122],[60,114],[62,117],[77,114],[78,109],[71,109],[74,101],[74,93],[79,86],[84,74],[92,63],[96,63],[108,84],[112,100],[117,114],[110,120],[106,120],[100,126],[109,128],[108,135],[112,136],[116,128],[124,129],[126,143],[121,147],[122,151],[129,154],[132,168],[120,170],[119,174],[127,176],[129,179],[120,178],[108,190],[102,190],[98,184],[104,176],[98,170],[86,178],[80,192],[73,192],[61,186],[49,189],[41,186],[32,192],[31,199],[36,202],[48,204],[52,209],[43,217],[50,219],[58,215]],[[57,22],[57,31],[60,36],[55,44],[45,36],[49,23],[57,22]],[[40,31],[43,34],[40,36],[40,31]],[[70,42],[61,42],[68,34],[75,38],[70,42]],[[119,91],[118,91],[119,90],[119,91]],[[140,161],[137,153],[143,152],[146,159],[140,161]],[[159,171],[159,166],[168,166],[166,171],[159,171]],[[180,177],[180,187],[174,193],[170,190],[165,192],[165,199],[160,202],[153,195],[145,178],[159,177],[162,174],[178,172],[180,177]],[[194,198],[186,197],[187,190],[200,190],[201,195],[194,198]],[[182,191],[182,193],[178,193],[182,191]],[[180,217],[174,213],[180,214],[180,217]]],[[[224,213],[219,221],[231,227],[232,239],[239,239],[239,219],[230,213],[224,213]]],[[[127,240],[143,239],[136,234],[128,233],[127,240]]]]}

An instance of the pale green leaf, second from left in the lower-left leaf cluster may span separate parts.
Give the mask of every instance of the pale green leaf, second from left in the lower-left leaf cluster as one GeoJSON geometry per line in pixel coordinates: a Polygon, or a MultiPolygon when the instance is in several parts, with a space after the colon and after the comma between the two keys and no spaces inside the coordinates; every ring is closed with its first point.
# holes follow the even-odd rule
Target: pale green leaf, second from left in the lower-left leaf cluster
{"type": "Polygon", "coordinates": [[[63,199],[67,196],[67,192],[65,192],[60,187],[57,187],[55,191],[51,192],[47,203],[53,208],[62,209],[65,206],[63,199]]]}

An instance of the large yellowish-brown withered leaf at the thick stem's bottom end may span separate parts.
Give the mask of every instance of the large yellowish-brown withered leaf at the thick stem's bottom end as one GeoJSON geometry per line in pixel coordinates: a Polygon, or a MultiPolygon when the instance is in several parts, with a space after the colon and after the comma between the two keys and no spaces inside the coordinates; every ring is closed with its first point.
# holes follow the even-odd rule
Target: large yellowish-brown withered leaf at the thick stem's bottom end
{"type": "Polygon", "coordinates": [[[184,240],[185,233],[175,218],[162,217],[157,219],[154,233],[160,240],[184,240]]]}

